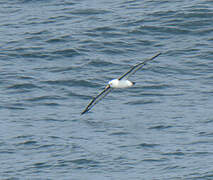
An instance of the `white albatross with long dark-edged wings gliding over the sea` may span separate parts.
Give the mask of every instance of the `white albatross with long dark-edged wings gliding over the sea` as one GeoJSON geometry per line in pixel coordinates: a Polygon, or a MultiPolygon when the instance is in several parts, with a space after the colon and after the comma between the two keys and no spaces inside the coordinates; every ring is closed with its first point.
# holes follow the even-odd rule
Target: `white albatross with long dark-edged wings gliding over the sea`
{"type": "Polygon", "coordinates": [[[90,101],[90,103],[81,112],[81,114],[84,114],[84,113],[88,112],[90,109],[92,109],[92,107],[95,106],[95,104],[97,104],[101,99],[103,99],[112,89],[114,89],[114,88],[128,88],[128,87],[133,86],[135,83],[129,81],[128,77],[131,76],[132,74],[134,74],[139,69],[141,69],[148,61],[151,61],[151,60],[155,59],[160,54],[161,53],[157,53],[153,57],[151,57],[149,59],[146,59],[143,62],[140,62],[138,64],[135,64],[134,66],[132,66],[132,68],[129,71],[124,73],[118,79],[113,79],[113,80],[109,81],[108,84],[106,85],[106,87],[104,88],[104,90],[102,92],[100,92],[96,97],[94,97],[90,101]]]}

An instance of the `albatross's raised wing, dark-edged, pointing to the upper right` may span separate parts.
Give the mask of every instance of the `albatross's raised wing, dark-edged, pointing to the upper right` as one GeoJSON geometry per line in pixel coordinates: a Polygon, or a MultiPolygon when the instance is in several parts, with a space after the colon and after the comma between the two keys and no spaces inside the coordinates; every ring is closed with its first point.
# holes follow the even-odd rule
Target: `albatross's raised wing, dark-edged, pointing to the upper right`
{"type": "Polygon", "coordinates": [[[145,61],[135,64],[129,71],[127,71],[126,73],[124,73],[121,77],[118,78],[118,80],[123,79],[124,77],[126,77],[128,75],[128,77],[132,74],[134,74],[136,71],[138,71],[139,69],[141,69],[148,61],[151,61],[153,59],[155,59],[156,57],[158,57],[161,53],[157,53],[156,55],[154,55],[153,57],[146,59],[145,61]]]}

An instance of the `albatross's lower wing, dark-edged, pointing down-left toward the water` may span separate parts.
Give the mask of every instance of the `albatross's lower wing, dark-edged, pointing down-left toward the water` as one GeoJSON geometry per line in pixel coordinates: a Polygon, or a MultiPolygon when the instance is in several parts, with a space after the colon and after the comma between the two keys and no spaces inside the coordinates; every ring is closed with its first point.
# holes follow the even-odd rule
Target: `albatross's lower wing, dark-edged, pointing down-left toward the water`
{"type": "Polygon", "coordinates": [[[92,101],[87,105],[87,107],[82,111],[81,115],[92,109],[95,104],[97,104],[101,99],[103,99],[111,91],[110,86],[107,86],[101,93],[92,99],[92,101]]]}

